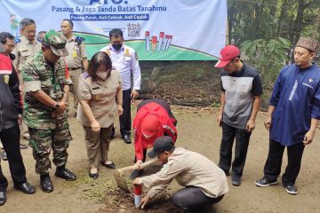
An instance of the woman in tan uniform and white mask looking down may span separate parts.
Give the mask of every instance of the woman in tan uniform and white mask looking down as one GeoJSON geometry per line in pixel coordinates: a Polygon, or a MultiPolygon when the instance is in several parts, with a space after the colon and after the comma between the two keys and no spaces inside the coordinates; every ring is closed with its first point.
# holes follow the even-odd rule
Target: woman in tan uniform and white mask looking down
{"type": "Polygon", "coordinates": [[[108,159],[110,133],[117,114],[123,112],[121,77],[112,69],[111,59],[103,51],[90,60],[88,72],[79,79],[79,118],[84,126],[85,146],[89,159],[89,176],[98,178],[101,163],[115,169],[108,159]],[[117,114],[116,114],[117,113],[117,114]]]}

